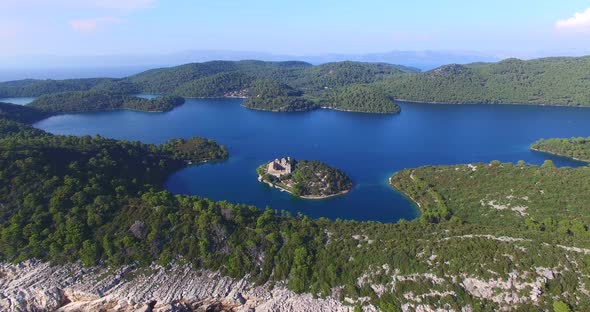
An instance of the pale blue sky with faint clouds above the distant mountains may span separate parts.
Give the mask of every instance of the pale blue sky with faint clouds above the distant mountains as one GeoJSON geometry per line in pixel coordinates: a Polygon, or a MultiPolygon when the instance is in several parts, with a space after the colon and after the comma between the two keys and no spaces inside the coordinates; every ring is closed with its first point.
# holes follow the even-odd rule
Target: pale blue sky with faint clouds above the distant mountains
{"type": "Polygon", "coordinates": [[[0,56],[590,54],[590,0],[0,0],[0,56]]]}

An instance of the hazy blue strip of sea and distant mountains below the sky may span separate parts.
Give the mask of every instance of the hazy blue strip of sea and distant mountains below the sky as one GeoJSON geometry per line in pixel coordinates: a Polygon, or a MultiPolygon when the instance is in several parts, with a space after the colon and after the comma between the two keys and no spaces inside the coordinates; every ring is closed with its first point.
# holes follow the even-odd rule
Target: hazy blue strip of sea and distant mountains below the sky
{"type": "Polygon", "coordinates": [[[469,51],[391,51],[370,54],[282,55],[264,52],[195,50],[167,54],[118,54],[96,56],[31,55],[0,59],[0,81],[26,78],[66,79],[124,77],[156,67],[212,60],[305,61],[315,65],[359,61],[389,63],[429,70],[441,65],[496,62],[501,55],[469,51]]]}

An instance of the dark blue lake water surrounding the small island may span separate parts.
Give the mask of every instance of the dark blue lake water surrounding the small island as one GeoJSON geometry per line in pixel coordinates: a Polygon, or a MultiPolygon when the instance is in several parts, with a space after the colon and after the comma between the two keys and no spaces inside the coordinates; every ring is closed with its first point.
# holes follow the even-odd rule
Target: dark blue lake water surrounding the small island
{"type": "Polygon", "coordinates": [[[35,126],[71,135],[162,143],[202,136],[225,145],[228,161],[173,174],[166,188],[215,200],[301,212],[312,217],[390,222],[417,210],[392,190],[394,172],[424,165],[492,160],[559,166],[579,162],[529,151],[539,138],[590,136],[590,109],[519,105],[400,103],[399,115],[318,110],[271,113],[248,110],[239,99],[190,99],[168,113],[115,111],[51,117],[35,126]],[[255,169],[281,156],[315,159],[344,170],[352,192],[302,200],[259,183],[255,169]]]}

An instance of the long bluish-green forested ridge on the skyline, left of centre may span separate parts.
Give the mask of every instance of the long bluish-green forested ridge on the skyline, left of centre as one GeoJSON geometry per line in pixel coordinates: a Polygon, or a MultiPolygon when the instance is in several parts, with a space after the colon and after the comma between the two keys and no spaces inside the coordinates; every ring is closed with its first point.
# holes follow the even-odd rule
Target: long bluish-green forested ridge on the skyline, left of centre
{"type": "Polygon", "coordinates": [[[249,82],[254,80],[270,79],[310,93],[353,83],[373,82],[408,72],[412,72],[412,69],[360,62],[313,66],[304,62],[213,61],[149,70],[129,77],[128,81],[137,85],[142,92],[184,95],[182,93],[191,89],[189,86],[193,84],[193,81],[206,77],[218,77],[216,75],[225,73],[231,74],[229,77],[224,77],[230,81],[240,80],[238,78],[242,76],[243,84],[236,85],[237,88],[247,88],[250,86],[249,82]],[[250,81],[243,79],[244,76],[249,77],[250,81]]]}

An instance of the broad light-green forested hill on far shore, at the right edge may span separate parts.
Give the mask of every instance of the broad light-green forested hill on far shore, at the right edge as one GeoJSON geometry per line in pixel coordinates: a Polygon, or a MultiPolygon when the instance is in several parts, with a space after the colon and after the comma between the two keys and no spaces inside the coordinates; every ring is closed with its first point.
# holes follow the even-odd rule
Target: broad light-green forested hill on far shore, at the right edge
{"type": "Polygon", "coordinates": [[[590,57],[447,65],[379,86],[411,101],[590,106],[590,57]]]}

